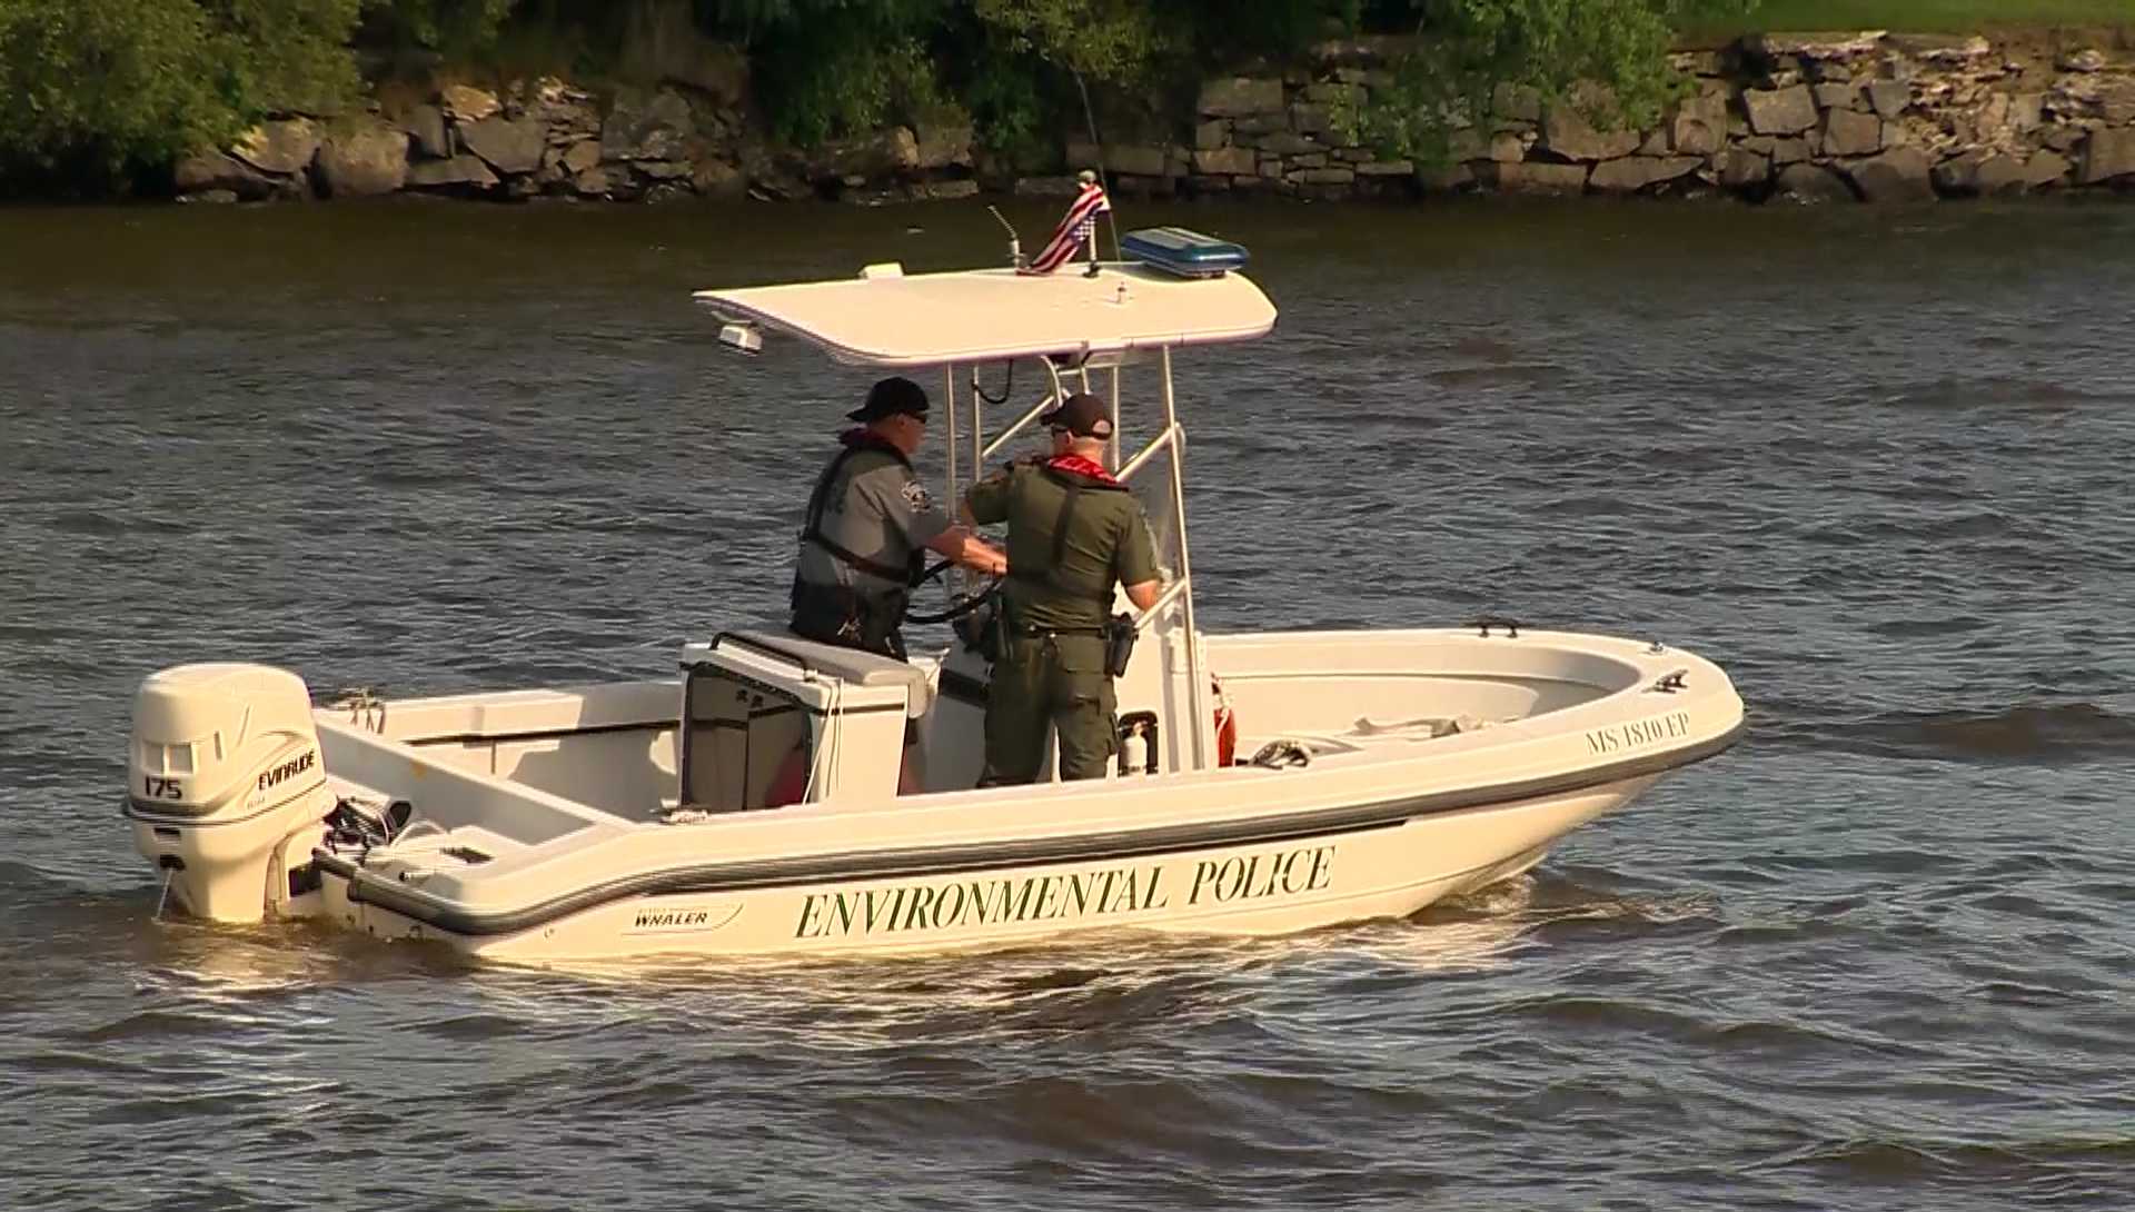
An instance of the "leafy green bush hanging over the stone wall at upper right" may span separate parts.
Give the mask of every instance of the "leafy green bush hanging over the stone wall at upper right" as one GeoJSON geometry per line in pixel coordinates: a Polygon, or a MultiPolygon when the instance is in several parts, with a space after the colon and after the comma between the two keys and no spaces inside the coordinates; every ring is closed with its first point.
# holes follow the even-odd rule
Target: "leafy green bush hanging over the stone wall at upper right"
{"type": "Polygon", "coordinates": [[[1456,130],[1499,117],[1509,87],[1576,105],[1603,128],[1652,124],[1685,81],[1667,64],[1680,21],[1755,0],[1420,0],[1418,49],[1373,98],[1364,132],[1441,160],[1456,130]],[[1599,83],[1599,90],[1578,81],[1599,83]]]}

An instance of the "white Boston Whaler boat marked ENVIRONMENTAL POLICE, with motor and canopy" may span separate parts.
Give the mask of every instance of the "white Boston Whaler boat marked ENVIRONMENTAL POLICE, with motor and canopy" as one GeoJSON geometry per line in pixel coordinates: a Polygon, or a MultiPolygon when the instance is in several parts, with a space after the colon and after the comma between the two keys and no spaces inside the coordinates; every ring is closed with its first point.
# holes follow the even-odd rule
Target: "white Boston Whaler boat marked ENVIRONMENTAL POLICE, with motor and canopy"
{"type": "Polygon", "coordinates": [[[278,668],[179,666],[145,679],[128,743],[126,815],[169,898],[510,960],[1279,932],[1522,873],[1736,738],[1727,676],[1659,642],[1202,634],[1172,358],[1262,337],[1275,307],[1236,245],[1121,243],[1089,273],[880,265],[698,294],[728,346],[939,369],[948,499],[1065,393],[1110,401],[1108,465],[1168,587],[1138,615],[1106,779],[974,790],[989,668],[967,642],[897,661],[732,629],[670,681],[331,706],[278,668]],[[1044,399],[980,388],[1016,369],[1044,399]],[[922,790],[899,796],[907,721],[922,790]]]}

